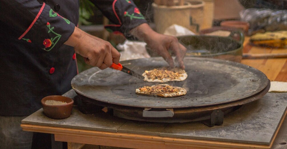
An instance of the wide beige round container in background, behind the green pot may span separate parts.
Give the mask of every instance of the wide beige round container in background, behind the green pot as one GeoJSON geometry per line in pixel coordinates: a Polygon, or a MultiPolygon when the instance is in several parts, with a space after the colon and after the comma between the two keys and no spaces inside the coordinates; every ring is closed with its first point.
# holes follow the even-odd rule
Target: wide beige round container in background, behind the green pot
{"type": "Polygon", "coordinates": [[[182,6],[164,6],[152,3],[152,7],[154,8],[154,23],[158,33],[163,34],[166,28],[173,24],[190,28],[190,3],[186,2],[182,6]]]}

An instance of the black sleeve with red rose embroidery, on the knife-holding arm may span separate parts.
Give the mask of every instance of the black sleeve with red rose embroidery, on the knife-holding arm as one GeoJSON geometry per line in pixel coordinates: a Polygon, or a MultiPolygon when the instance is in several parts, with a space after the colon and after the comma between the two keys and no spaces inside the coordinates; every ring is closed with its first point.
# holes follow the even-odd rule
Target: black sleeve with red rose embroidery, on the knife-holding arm
{"type": "Polygon", "coordinates": [[[75,24],[36,0],[0,0],[0,21],[7,23],[18,39],[50,51],[69,39],[75,24]]]}

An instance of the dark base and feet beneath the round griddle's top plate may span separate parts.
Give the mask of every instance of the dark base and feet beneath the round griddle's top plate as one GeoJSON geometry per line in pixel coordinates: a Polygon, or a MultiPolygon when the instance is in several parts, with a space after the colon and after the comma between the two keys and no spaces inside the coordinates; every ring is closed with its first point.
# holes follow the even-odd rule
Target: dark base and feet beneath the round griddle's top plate
{"type": "MultiPolygon", "coordinates": [[[[242,99],[240,101],[236,102],[231,102],[231,103],[226,103],[226,104],[221,104],[221,105],[216,105],[216,106],[210,106],[210,107],[201,107],[202,111],[210,111],[210,114],[208,115],[199,115],[195,119],[182,119],[179,121],[169,121],[169,120],[162,120],[158,121],[155,120],[154,122],[168,122],[168,123],[173,123],[173,122],[188,122],[188,121],[200,121],[201,123],[205,124],[208,127],[213,127],[215,125],[222,125],[223,120],[224,120],[224,115],[231,113],[237,109],[239,109],[242,105],[246,103],[250,103],[252,101],[255,101],[257,99],[260,99],[263,97],[269,90],[270,88],[270,81],[268,81],[268,85],[265,89],[263,89],[261,92],[255,94],[254,96],[242,99]],[[227,109],[226,109],[227,108],[227,109]],[[224,110],[222,110],[224,109],[224,110]]],[[[94,99],[90,99],[81,95],[77,95],[74,98],[74,105],[77,105],[79,110],[84,113],[84,114],[92,114],[96,112],[103,112],[102,109],[104,107],[110,107],[109,104],[103,103],[96,101],[94,99]]],[[[128,107],[110,107],[108,108],[107,113],[125,118],[125,119],[131,119],[131,120],[138,120],[138,121],[150,121],[149,118],[152,119],[164,119],[168,117],[173,117],[174,114],[176,113],[177,109],[173,108],[167,108],[167,109],[154,109],[154,108],[144,108],[142,110],[142,117],[135,117],[131,116],[127,113],[125,113],[125,110],[129,109],[128,107]]],[[[199,108],[200,109],[200,108],[199,108]]],[[[140,109],[137,109],[136,111],[140,111],[140,109]]]]}

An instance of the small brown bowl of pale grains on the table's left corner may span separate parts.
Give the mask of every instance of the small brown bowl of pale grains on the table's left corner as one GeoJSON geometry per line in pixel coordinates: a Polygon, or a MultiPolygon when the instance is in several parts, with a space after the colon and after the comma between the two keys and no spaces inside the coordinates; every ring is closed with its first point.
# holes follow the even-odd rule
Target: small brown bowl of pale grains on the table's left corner
{"type": "Polygon", "coordinates": [[[71,115],[73,109],[73,99],[65,96],[52,95],[46,96],[41,100],[44,113],[47,117],[52,119],[65,119],[71,115]],[[55,100],[66,102],[62,105],[46,105],[46,100],[55,100]]]}

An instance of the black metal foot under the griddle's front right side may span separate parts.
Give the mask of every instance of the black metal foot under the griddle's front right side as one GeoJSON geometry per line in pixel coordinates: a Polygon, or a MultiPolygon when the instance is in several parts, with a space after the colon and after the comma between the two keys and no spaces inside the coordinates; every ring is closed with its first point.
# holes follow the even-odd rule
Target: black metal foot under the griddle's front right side
{"type": "Polygon", "coordinates": [[[201,121],[208,127],[213,127],[214,125],[222,125],[223,124],[223,115],[224,113],[220,109],[213,110],[210,114],[210,119],[206,119],[201,121]]]}

